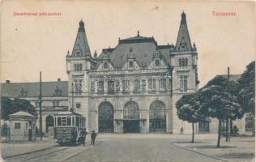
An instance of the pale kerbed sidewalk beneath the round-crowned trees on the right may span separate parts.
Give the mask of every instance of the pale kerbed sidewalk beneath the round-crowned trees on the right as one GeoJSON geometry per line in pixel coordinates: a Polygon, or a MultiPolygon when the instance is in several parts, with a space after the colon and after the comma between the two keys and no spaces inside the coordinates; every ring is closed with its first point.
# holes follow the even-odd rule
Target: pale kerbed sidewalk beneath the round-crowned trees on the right
{"type": "Polygon", "coordinates": [[[215,136],[215,139],[203,139],[202,135],[196,135],[194,143],[190,143],[190,140],[188,142],[177,142],[175,145],[224,161],[245,162],[255,160],[254,137],[233,137],[230,143],[225,142],[225,138],[222,138],[220,148],[216,148],[217,136],[215,136]]]}

